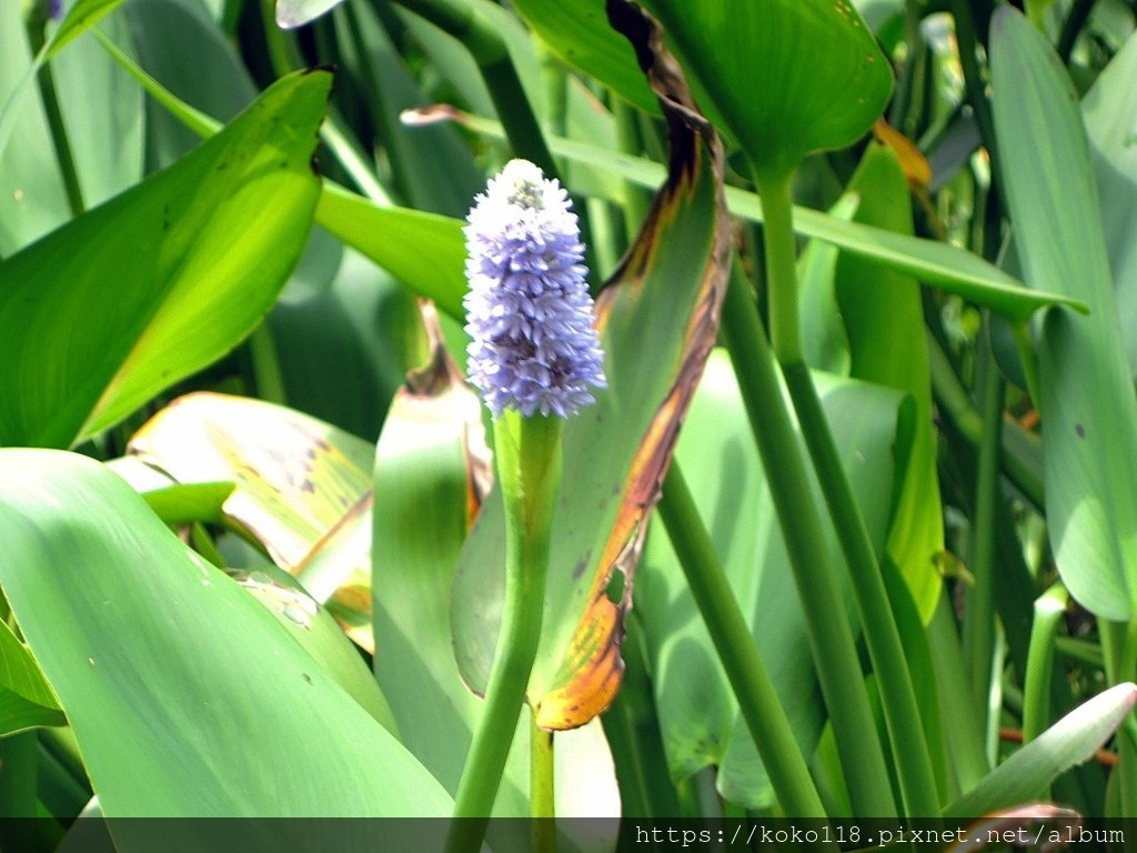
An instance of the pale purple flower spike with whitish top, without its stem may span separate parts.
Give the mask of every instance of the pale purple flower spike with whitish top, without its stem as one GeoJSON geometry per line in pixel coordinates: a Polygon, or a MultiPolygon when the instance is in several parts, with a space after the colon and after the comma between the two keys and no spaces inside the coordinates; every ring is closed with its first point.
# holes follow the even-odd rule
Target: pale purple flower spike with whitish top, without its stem
{"type": "Polygon", "coordinates": [[[511,160],[470,212],[470,381],[495,417],[567,417],[607,384],[571,206],[559,183],[511,160]]]}

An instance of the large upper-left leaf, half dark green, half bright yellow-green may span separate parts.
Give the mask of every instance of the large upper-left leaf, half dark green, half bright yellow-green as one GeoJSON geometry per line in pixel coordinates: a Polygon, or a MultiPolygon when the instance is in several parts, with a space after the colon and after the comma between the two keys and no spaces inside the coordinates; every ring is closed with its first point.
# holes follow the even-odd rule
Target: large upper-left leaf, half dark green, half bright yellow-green
{"type": "Polygon", "coordinates": [[[0,265],[0,441],[66,447],[248,334],[299,256],[331,76],[269,89],[171,168],[0,265]]]}

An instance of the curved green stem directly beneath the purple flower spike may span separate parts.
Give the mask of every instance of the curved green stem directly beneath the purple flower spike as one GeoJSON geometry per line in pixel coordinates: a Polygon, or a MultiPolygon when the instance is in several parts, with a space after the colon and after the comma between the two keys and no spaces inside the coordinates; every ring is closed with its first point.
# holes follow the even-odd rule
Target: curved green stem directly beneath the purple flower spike
{"type": "Polygon", "coordinates": [[[505,602],[485,710],[454,801],[448,853],[479,850],[501,784],[541,636],[549,531],[561,487],[558,417],[507,411],[495,420],[493,438],[505,500],[505,602]]]}

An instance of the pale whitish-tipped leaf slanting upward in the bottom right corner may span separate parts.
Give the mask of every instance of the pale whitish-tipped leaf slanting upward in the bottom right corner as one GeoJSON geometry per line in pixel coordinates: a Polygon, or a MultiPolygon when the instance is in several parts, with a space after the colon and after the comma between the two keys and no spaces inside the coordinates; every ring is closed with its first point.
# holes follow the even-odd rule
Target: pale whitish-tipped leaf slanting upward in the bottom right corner
{"type": "Polygon", "coordinates": [[[946,818],[973,818],[1037,798],[1070,768],[1089,761],[1137,703],[1137,685],[1111,687],[1071,711],[944,809],[946,818]]]}

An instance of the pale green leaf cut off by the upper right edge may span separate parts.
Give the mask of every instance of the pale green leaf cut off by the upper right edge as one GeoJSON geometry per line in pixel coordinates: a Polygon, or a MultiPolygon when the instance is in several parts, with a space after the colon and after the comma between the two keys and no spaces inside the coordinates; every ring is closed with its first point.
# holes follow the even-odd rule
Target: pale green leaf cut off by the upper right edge
{"type": "Polygon", "coordinates": [[[1081,101],[1097,176],[1102,226],[1113,270],[1118,321],[1129,372],[1137,378],[1137,35],[1102,72],[1081,101]]]}

